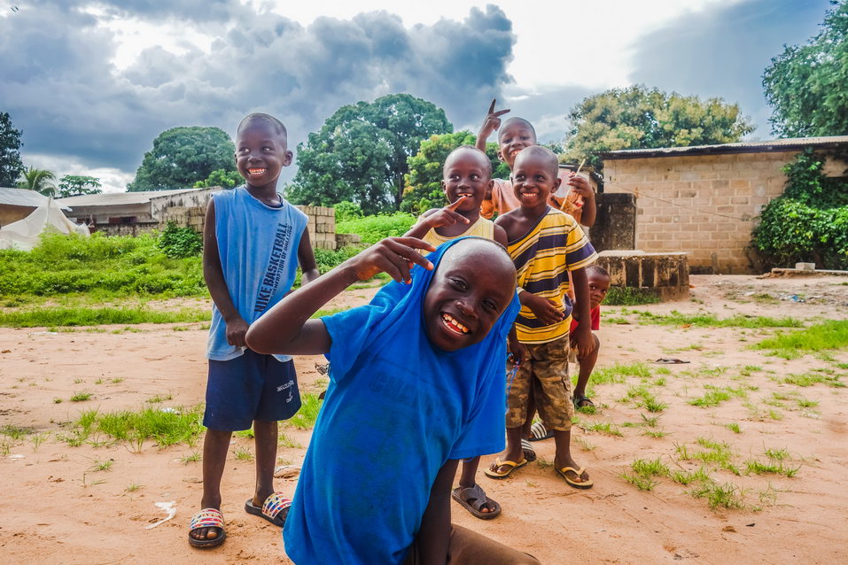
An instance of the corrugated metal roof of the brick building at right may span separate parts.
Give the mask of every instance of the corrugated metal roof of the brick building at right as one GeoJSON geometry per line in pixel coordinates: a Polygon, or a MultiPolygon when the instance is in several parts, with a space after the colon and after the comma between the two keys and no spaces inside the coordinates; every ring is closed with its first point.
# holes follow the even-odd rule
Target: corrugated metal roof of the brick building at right
{"type": "Polygon", "coordinates": [[[689,147],[663,147],[658,149],[623,149],[602,151],[603,159],[642,159],[646,157],[677,157],[704,153],[759,153],[764,151],[793,151],[805,147],[836,147],[848,144],[848,135],[829,137],[788,137],[764,142],[721,143],[719,145],[690,145],[689,147]]]}

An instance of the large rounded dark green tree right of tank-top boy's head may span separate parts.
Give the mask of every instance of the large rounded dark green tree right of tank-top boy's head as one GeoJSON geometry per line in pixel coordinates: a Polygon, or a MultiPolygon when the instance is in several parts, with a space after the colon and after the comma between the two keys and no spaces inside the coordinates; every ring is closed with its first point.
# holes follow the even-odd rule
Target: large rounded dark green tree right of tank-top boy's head
{"type": "Polygon", "coordinates": [[[444,110],[408,94],[342,106],[298,146],[289,197],[307,205],[348,200],[365,213],[397,210],[407,159],[422,140],[453,129],[444,110]]]}

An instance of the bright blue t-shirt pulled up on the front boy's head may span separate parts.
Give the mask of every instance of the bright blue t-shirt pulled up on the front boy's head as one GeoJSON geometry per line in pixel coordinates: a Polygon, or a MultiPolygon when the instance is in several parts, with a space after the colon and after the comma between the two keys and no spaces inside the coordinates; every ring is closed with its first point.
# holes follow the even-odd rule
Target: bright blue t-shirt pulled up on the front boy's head
{"type": "Polygon", "coordinates": [[[412,289],[389,283],[370,305],[322,318],[331,383],[284,527],[298,565],[401,563],[445,462],[503,449],[517,298],[482,343],[443,352],[424,333],[431,276],[416,267],[412,289]]]}

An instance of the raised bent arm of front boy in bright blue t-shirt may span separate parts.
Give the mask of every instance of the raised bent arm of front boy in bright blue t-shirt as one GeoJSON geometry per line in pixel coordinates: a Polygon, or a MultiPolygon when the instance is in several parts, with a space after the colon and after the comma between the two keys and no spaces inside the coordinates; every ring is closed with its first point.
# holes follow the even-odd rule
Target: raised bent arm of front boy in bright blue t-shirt
{"type": "Polygon", "coordinates": [[[314,282],[286,296],[247,331],[247,346],[257,353],[318,355],[330,351],[330,334],[320,320],[309,320],[321,306],[357,281],[388,273],[397,282],[409,282],[413,263],[432,269],[416,249],[433,251],[414,237],[389,237],[347,259],[314,282]]]}

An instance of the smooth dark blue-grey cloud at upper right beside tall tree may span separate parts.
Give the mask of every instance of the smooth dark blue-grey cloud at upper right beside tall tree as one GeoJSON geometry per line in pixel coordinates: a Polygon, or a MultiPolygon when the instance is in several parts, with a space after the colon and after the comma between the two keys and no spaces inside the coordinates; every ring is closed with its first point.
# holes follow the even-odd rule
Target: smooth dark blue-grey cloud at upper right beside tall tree
{"type": "Polygon", "coordinates": [[[829,0],[750,0],[683,15],[634,43],[630,80],[740,104],[767,139],[763,71],[784,44],[817,34],[828,8],[829,0]]]}

